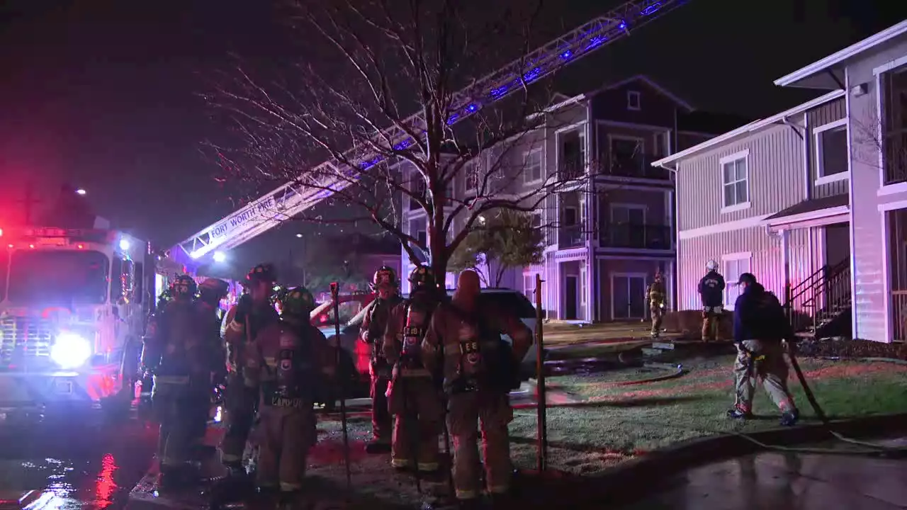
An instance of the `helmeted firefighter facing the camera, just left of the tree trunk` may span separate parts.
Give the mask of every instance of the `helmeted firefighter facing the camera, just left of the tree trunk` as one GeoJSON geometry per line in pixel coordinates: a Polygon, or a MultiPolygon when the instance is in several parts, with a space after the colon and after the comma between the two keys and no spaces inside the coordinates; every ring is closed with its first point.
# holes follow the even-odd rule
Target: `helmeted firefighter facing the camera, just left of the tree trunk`
{"type": "Polygon", "coordinates": [[[397,294],[398,287],[394,270],[382,266],[375,271],[372,290],[377,296],[368,304],[366,318],[362,321],[362,329],[359,330],[359,338],[366,342],[371,352],[369,374],[371,376],[373,438],[372,442],[366,445],[366,452],[373,454],[385,453],[391,447],[392,420],[390,411],[387,409],[386,393],[393,367],[385,358],[383,342],[390,312],[403,300],[397,294]]]}

